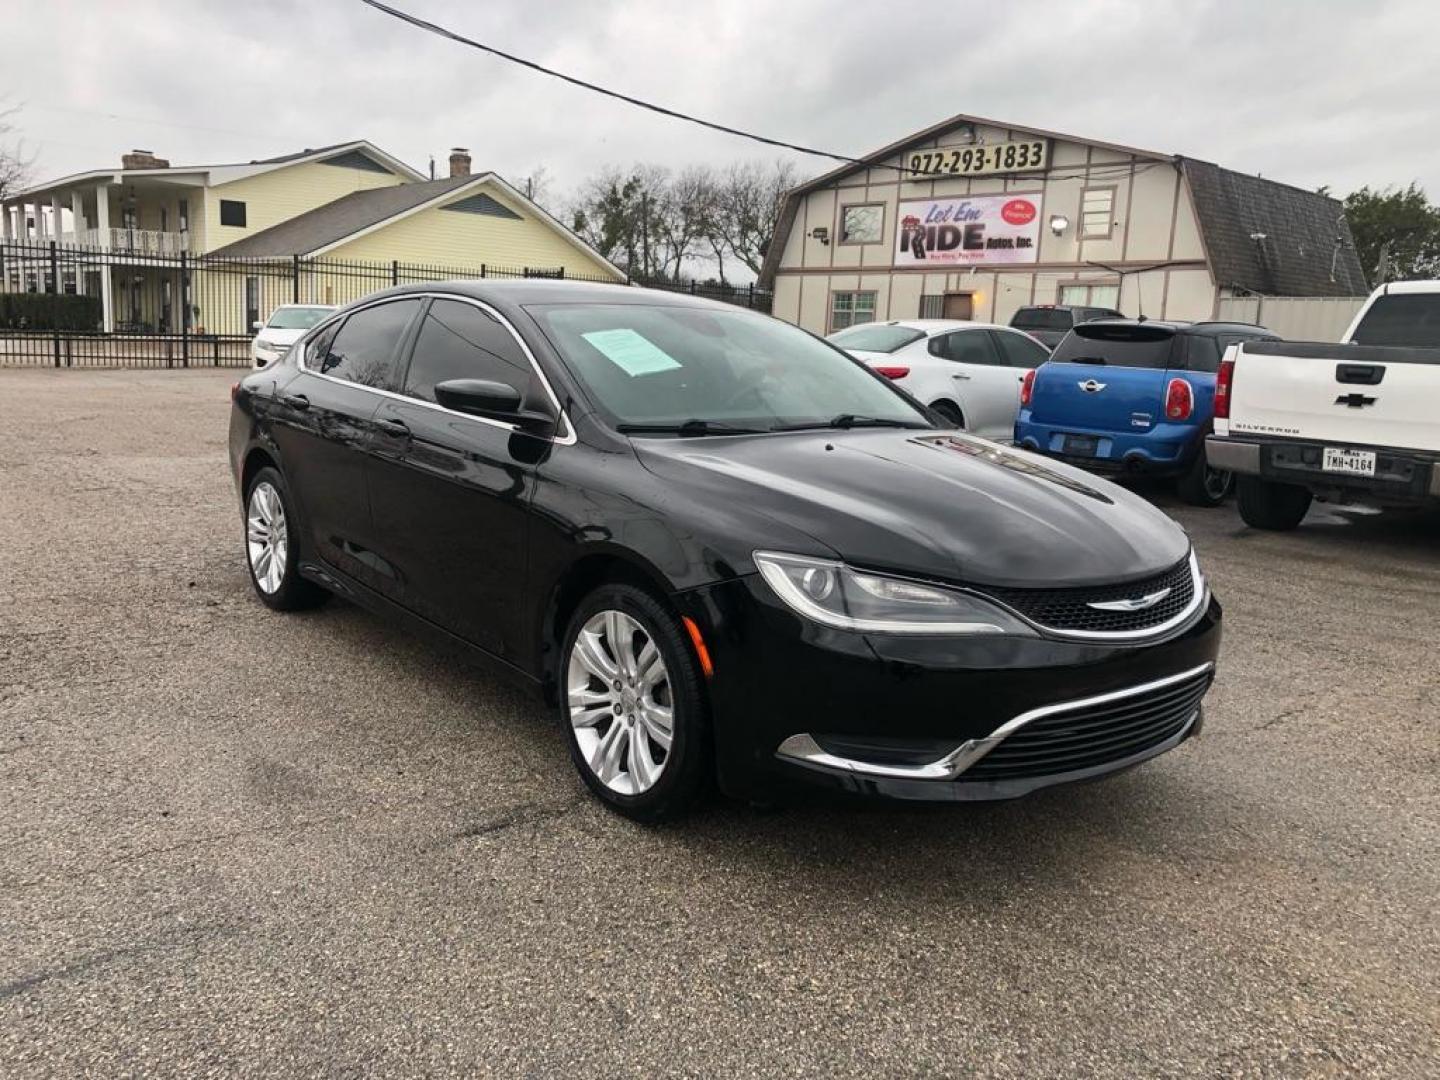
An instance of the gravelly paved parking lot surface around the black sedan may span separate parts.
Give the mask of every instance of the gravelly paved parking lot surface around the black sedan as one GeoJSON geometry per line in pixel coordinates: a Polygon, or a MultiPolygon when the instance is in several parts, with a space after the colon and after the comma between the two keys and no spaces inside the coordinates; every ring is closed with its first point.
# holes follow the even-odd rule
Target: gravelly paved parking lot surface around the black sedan
{"type": "Polygon", "coordinates": [[[0,372],[0,1073],[1440,1073],[1440,517],[1165,503],[1204,734],[645,829],[560,730],[252,596],[226,372],[0,372]]]}

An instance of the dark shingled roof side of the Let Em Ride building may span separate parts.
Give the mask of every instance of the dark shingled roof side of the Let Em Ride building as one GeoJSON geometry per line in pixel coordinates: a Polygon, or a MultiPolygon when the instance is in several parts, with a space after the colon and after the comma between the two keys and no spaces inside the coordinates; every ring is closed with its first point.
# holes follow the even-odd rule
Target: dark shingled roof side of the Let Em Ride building
{"type": "Polygon", "coordinates": [[[1208,161],[1178,161],[1217,285],[1272,297],[1369,291],[1339,200],[1208,161]]]}

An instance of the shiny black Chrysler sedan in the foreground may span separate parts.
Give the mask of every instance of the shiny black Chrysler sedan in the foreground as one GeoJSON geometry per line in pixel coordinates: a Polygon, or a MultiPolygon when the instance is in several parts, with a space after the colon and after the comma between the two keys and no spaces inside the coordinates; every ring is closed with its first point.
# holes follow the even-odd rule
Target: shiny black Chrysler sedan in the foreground
{"type": "Polygon", "coordinates": [[[264,603],[338,593],[495,661],[639,819],[711,780],[1093,779],[1198,732],[1220,647],[1145,501],[687,295],[376,294],[235,387],[230,458],[264,603]]]}

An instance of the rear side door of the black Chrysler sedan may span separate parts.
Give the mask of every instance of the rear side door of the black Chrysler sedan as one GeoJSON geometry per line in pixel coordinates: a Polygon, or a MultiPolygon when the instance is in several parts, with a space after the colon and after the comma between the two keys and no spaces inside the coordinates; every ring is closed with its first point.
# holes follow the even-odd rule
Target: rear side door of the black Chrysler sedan
{"type": "Polygon", "coordinates": [[[311,337],[272,412],[307,556],[367,585],[374,566],[364,469],[384,399],[377,390],[395,383],[400,343],[420,307],[397,300],[361,308],[311,337]]]}

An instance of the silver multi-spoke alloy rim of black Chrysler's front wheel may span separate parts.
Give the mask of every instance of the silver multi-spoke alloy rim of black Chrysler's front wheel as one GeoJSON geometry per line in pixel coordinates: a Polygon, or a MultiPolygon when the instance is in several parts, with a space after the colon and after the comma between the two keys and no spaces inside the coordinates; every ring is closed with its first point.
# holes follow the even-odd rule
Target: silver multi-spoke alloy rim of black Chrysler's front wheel
{"type": "Polygon", "coordinates": [[[570,726],[595,778],[619,795],[655,785],[670,762],[670,671],[649,632],[621,611],[592,615],[566,668],[570,726]]]}

